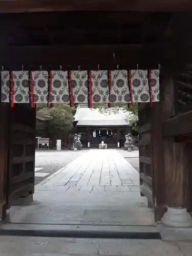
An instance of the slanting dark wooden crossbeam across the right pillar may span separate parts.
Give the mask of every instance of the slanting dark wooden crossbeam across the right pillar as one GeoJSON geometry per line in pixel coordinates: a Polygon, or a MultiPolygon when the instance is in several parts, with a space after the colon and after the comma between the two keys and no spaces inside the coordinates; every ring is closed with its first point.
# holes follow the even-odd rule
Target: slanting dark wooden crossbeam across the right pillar
{"type": "Polygon", "coordinates": [[[192,134],[192,111],[180,114],[163,122],[163,136],[192,134]]]}

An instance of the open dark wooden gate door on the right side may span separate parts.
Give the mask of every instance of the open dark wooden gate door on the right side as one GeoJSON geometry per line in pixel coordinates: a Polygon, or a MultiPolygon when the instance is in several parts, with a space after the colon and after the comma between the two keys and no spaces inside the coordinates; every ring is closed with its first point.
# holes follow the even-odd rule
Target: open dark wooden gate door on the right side
{"type": "Polygon", "coordinates": [[[164,158],[162,141],[161,103],[139,105],[140,193],[154,208],[155,221],[164,211],[164,158]]]}

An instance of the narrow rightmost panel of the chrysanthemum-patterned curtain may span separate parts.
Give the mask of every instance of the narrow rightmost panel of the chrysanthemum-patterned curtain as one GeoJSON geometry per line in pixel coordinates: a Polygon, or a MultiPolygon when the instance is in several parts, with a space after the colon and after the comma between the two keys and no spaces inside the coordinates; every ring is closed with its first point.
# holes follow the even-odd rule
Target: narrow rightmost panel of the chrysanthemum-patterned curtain
{"type": "Polygon", "coordinates": [[[152,69],[152,101],[159,101],[159,69],[152,69]]]}

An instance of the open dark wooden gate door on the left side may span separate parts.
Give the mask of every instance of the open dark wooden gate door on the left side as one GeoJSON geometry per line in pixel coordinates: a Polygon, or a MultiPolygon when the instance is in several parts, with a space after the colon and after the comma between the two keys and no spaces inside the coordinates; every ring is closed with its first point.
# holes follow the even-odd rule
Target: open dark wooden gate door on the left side
{"type": "Polygon", "coordinates": [[[9,167],[7,206],[13,200],[34,193],[35,108],[15,104],[9,120],[9,167]]]}

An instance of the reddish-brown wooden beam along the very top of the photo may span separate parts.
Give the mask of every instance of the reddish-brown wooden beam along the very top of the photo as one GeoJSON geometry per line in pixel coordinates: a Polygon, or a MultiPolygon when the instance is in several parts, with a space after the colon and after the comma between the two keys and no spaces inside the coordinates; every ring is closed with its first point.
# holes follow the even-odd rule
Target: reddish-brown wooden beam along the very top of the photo
{"type": "Polygon", "coordinates": [[[2,0],[0,12],[51,12],[51,11],[184,11],[191,7],[190,0],[2,0]]]}

